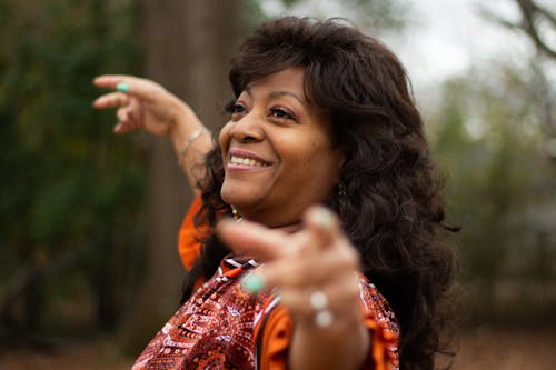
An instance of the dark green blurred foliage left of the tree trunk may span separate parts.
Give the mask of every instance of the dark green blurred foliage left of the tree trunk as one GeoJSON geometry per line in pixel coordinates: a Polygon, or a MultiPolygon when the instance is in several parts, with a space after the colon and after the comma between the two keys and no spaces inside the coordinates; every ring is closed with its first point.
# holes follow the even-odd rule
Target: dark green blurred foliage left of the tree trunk
{"type": "Polygon", "coordinates": [[[40,329],[49,307],[71,301],[70,282],[111,299],[141,253],[140,152],[91,108],[95,76],[137,70],[135,19],[131,1],[0,6],[0,309],[16,329],[40,329]],[[37,277],[41,294],[28,299],[37,277]]]}

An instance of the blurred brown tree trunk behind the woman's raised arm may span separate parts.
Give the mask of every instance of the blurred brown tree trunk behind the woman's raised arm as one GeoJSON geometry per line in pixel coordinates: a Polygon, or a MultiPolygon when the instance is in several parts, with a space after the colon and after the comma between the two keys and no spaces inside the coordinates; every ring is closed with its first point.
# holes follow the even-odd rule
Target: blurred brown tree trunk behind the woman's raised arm
{"type": "MultiPolygon", "coordinates": [[[[185,99],[211,129],[221,122],[227,61],[236,46],[240,1],[143,0],[145,76],[185,99]]],[[[215,131],[215,130],[214,130],[215,131]]],[[[148,270],[123,326],[125,346],[142,349],[177,310],[183,268],[177,252],[180,221],[191,200],[167,139],[149,138],[148,270]]]]}

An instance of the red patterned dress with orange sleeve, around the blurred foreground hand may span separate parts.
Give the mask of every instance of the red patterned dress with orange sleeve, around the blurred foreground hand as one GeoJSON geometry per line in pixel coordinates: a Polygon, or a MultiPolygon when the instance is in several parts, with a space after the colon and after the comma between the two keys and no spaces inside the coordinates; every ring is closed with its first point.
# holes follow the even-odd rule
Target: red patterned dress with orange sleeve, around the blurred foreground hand
{"type": "MultiPolygon", "coordinates": [[[[270,292],[245,293],[239,277],[257,263],[227,258],[137,359],[141,369],[286,369],[292,324],[270,292]]],[[[373,348],[364,369],[397,369],[398,327],[376,288],[360,280],[373,348]]]]}

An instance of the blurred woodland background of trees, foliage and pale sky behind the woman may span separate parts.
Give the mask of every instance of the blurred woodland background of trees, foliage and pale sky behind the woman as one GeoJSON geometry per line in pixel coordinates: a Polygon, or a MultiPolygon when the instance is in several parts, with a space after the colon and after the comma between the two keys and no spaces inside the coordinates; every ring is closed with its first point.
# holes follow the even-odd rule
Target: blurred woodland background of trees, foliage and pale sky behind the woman
{"type": "Polygon", "coordinates": [[[463,227],[454,369],[556,367],[553,0],[1,0],[0,369],[127,369],[178,308],[191,193],[165,139],[111,133],[101,73],[212,129],[238,40],[345,17],[403,60],[463,227]]]}

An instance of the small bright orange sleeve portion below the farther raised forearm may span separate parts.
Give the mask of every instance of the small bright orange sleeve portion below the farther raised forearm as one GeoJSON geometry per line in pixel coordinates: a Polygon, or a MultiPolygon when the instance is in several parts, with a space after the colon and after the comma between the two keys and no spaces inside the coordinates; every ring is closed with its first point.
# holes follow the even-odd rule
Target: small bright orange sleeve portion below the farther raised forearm
{"type": "Polygon", "coordinates": [[[199,194],[193,199],[193,202],[189,207],[187,214],[183,217],[181,222],[181,228],[178,236],[178,253],[181,259],[181,263],[187,270],[190,270],[197,258],[200,256],[201,243],[199,242],[199,237],[202,230],[206,228],[195,227],[193,218],[195,214],[201,209],[202,201],[199,194]]]}

